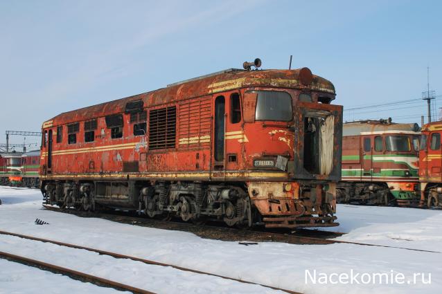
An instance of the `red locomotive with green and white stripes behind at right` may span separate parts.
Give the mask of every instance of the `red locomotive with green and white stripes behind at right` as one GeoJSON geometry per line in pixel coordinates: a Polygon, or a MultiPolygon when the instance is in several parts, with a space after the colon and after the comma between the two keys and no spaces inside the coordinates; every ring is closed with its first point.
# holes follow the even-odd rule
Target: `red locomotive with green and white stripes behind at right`
{"type": "Polygon", "coordinates": [[[338,203],[418,205],[417,124],[346,122],[338,203]]]}

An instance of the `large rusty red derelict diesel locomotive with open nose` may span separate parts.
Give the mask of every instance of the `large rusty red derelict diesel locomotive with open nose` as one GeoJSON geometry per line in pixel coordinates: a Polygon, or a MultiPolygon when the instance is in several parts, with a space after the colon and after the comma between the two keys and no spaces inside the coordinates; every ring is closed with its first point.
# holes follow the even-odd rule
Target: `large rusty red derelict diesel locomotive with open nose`
{"type": "Polygon", "coordinates": [[[334,99],[308,68],[229,69],[62,113],[42,125],[42,193],[84,210],[337,226],[334,99]]]}

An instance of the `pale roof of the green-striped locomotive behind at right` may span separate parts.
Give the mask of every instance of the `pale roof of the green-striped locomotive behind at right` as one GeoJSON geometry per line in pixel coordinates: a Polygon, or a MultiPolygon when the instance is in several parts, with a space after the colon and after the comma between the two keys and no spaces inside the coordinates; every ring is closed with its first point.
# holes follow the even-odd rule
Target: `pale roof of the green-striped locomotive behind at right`
{"type": "Polygon", "coordinates": [[[380,122],[379,120],[364,120],[346,122],[342,136],[360,136],[364,134],[419,134],[420,128],[416,123],[398,124],[395,122],[380,122]]]}

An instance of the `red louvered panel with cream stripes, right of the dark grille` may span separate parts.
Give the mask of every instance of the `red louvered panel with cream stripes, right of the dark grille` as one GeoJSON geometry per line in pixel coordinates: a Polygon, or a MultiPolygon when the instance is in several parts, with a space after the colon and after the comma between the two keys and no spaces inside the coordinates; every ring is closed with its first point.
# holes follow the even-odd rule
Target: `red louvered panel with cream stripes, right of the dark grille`
{"type": "Polygon", "coordinates": [[[210,145],[211,100],[189,100],[179,105],[179,147],[210,145]]]}

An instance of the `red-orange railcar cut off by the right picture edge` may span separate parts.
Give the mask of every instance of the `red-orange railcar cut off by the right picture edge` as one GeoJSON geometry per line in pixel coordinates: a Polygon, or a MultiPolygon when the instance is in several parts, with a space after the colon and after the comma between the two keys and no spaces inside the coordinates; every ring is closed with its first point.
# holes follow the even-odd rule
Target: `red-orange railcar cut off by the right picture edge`
{"type": "Polygon", "coordinates": [[[421,205],[442,207],[442,121],[430,122],[422,127],[419,154],[419,181],[421,205]]]}

